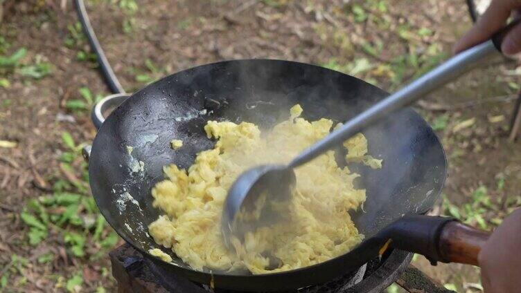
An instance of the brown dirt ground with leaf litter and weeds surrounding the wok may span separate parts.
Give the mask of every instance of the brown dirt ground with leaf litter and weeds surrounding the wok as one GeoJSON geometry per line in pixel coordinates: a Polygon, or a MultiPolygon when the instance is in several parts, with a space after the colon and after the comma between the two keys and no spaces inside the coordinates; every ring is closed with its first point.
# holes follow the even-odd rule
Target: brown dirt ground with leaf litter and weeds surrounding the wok
{"type": "MultiPolygon", "coordinates": [[[[91,207],[78,147],[94,139],[88,110],[109,90],[73,3],[0,5],[0,57],[27,52],[7,66],[0,59],[0,141],[11,143],[0,147],[0,292],[114,292],[105,255],[118,240],[91,207]],[[60,220],[69,210],[79,220],[60,220]]],[[[245,58],[319,64],[392,91],[448,57],[471,25],[463,0],[96,0],[87,9],[129,92],[245,58]]],[[[507,140],[516,68],[486,64],[415,106],[448,157],[448,200],[438,210],[486,229],[521,205],[521,142],[507,140]]],[[[421,256],[414,265],[458,292],[480,291],[474,267],[432,267],[421,256]]]]}

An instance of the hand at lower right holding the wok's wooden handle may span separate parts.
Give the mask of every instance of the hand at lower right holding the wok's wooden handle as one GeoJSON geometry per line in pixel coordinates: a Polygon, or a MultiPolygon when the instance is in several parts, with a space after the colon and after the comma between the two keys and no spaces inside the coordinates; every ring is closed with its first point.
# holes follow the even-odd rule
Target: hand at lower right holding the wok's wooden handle
{"type": "Polygon", "coordinates": [[[495,229],[479,252],[485,293],[520,292],[520,249],[521,209],[517,209],[495,229]]]}

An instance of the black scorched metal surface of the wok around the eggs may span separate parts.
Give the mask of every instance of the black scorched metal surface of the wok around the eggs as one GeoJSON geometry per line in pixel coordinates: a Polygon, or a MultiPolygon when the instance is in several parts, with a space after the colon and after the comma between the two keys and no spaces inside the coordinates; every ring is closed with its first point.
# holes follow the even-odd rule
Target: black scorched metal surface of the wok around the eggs
{"type": "MultiPolygon", "coordinates": [[[[291,106],[301,104],[307,120],[326,117],[344,122],[385,96],[385,91],[355,77],[297,62],[236,60],[184,70],[134,93],[103,123],[91,151],[91,189],[107,222],[147,255],[148,249],[159,247],[148,236],[147,227],[163,214],[152,207],[150,191],[163,179],[164,165],[188,168],[197,153],[213,147],[215,142],[206,138],[203,129],[208,120],[247,121],[269,129],[288,118],[291,106]],[[173,139],[182,140],[183,147],[170,149],[173,139]],[[131,154],[127,146],[133,147],[131,154]],[[144,163],[143,171],[132,171],[139,161],[144,163]]],[[[430,209],[445,180],[446,163],[438,138],[410,108],[389,115],[364,135],[369,153],[384,160],[377,170],[349,165],[362,175],[358,183],[367,189],[364,211],[352,216],[360,233],[369,238],[403,214],[430,209]]],[[[216,286],[245,290],[257,288],[251,285],[254,280],[264,283],[265,290],[277,286],[270,285],[276,278],[285,287],[325,281],[336,270],[354,269],[363,256],[353,259],[346,254],[300,270],[251,276],[196,272],[170,249],[163,250],[173,256],[173,264],[148,257],[193,281],[209,283],[213,278],[216,286]]]]}

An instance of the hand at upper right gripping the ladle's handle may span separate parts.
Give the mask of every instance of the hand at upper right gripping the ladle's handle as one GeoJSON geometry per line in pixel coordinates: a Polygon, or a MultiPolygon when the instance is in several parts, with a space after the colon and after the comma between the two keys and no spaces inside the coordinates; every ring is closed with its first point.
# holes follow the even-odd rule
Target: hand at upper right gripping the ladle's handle
{"type": "MultiPolygon", "coordinates": [[[[454,53],[490,39],[495,32],[506,25],[506,20],[512,13],[518,10],[521,10],[521,0],[493,0],[474,27],[459,39],[454,46],[454,53]]],[[[512,28],[504,37],[501,50],[506,55],[521,52],[521,25],[512,28]]]]}

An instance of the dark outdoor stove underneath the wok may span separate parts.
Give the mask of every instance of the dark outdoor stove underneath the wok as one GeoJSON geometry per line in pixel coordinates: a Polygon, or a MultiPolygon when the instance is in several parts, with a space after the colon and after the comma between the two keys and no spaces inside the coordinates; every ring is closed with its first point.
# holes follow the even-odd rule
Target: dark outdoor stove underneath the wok
{"type": "MultiPolygon", "coordinates": [[[[112,274],[118,281],[119,293],[239,293],[211,288],[161,270],[143,258],[132,246],[121,245],[110,252],[112,274]]],[[[346,274],[325,284],[279,293],[351,293],[385,291],[394,281],[411,293],[449,293],[420,270],[409,265],[412,254],[394,250],[367,263],[365,270],[346,274]]]]}

